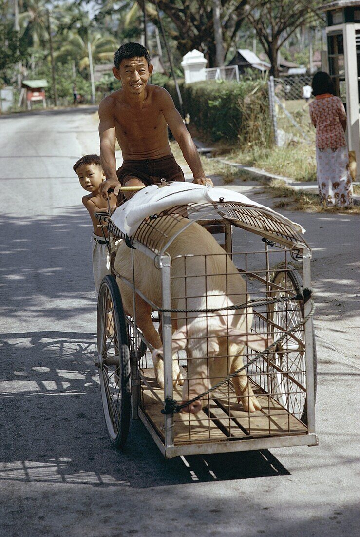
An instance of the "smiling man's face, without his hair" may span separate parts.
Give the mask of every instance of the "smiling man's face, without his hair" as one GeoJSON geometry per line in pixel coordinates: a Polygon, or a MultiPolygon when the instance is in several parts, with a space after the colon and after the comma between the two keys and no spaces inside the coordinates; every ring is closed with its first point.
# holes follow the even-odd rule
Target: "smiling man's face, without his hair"
{"type": "Polygon", "coordinates": [[[119,69],[112,68],[114,76],[121,80],[123,89],[131,95],[139,95],[147,84],[153,72],[153,66],[148,66],[145,57],[133,57],[121,62],[119,69]]]}

